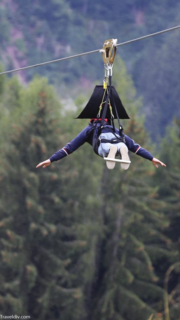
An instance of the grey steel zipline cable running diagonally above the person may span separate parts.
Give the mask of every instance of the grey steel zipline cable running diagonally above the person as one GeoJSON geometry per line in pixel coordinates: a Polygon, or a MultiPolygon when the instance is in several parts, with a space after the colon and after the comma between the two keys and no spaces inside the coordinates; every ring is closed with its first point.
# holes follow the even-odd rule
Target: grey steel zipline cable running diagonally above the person
{"type": "MultiPolygon", "coordinates": [[[[133,42],[135,42],[135,41],[142,40],[142,39],[146,39],[146,38],[149,38],[149,37],[151,37],[151,36],[160,35],[161,33],[168,32],[168,31],[172,31],[172,30],[175,30],[175,29],[178,29],[178,28],[180,28],[180,26],[176,26],[176,27],[173,27],[173,28],[169,28],[169,29],[165,29],[165,30],[159,31],[159,32],[151,33],[150,35],[147,35],[147,36],[142,36],[142,37],[139,37],[139,38],[136,38],[136,39],[132,39],[132,40],[129,40],[129,41],[125,41],[125,42],[116,44],[114,47],[119,47],[119,46],[121,46],[121,45],[133,43],[133,42]]],[[[20,70],[30,69],[30,68],[34,68],[34,67],[44,66],[44,65],[46,65],[46,64],[53,63],[53,62],[58,62],[58,61],[62,61],[62,60],[68,60],[68,59],[71,59],[71,58],[81,57],[81,56],[84,56],[84,55],[86,55],[86,54],[95,53],[95,52],[100,52],[100,50],[102,50],[102,49],[97,49],[97,50],[93,50],[93,51],[89,51],[89,52],[79,53],[79,54],[75,54],[75,55],[73,55],[73,56],[69,56],[69,57],[65,57],[65,58],[60,58],[60,59],[56,59],[56,60],[51,60],[51,61],[47,61],[47,62],[42,62],[42,63],[39,63],[39,64],[34,64],[34,65],[32,65],[32,66],[27,66],[27,67],[22,67],[22,68],[14,69],[14,70],[9,70],[9,71],[0,72],[0,75],[6,74],[6,73],[15,72],[15,71],[20,71],[20,70]]]]}

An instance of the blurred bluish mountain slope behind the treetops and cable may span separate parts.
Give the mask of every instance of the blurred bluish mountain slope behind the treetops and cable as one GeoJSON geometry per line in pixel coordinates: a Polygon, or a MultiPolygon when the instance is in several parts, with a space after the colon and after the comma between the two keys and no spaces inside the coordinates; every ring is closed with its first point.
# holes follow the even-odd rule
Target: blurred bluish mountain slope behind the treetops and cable
{"type": "MultiPolygon", "coordinates": [[[[9,70],[100,49],[104,41],[112,37],[117,37],[120,43],[178,25],[179,8],[177,0],[122,3],[117,0],[50,0],[46,3],[36,0],[33,4],[30,0],[2,0],[0,60],[4,70],[9,70]]],[[[155,138],[164,132],[162,115],[163,127],[176,115],[178,54],[169,55],[170,76],[166,75],[166,59],[172,47],[173,52],[177,52],[178,39],[179,30],[119,47],[117,51],[133,76],[137,94],[144,98],[142,111],[148,116],[147,128],[155,138]],[[157,81],[162,83],[162,80],[159,88],[157,81]],[[167,88],[169,98],[166,98],[167,88]],[[168,112],[169,104],[172,112],[168,112]],[[155,111],[150,105],[155,106],[155,111]],[[164,105],[167,105],[165,109],[164,105]],[[148,125],[149,120],[150,123],[155,120],[156,134],[151,124],[148,125]]],[[[18,75],[27,83],[36,73],[47,76],[64,94],[64,86],[72,91],[72,84],[78,87],[86,83],[88,87],[94,81],[102,82],[104,68],[101,54],[96,53],[23,70],[18,75]]]]}

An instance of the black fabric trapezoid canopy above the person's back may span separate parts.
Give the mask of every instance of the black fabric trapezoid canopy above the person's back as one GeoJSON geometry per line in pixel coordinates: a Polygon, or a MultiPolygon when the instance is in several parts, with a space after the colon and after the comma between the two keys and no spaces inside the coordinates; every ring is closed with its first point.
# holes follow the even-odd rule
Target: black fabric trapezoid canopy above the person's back
{"type": "MultiPolygon", "coordinates": [[[[108,86],[109,89],[109,86],[108,86]]],[[[91,98],[89,99],[88,103],[86,104],[86,107],[83,109],[83,111],[80,113],[80,115],[78,117],[76,117],[75,119],[93,119],[93,118],[97,118],[97,114],[99,112],[99,107],[102,103],[102,98],[104,95],[104,89],[103,89],[103,85],[96,85],[94,88],[94,92],[91,96],[91,98]]],[[[107,97],[107,91],[105,92],[105,96],[104,96],[104,101],[106,101],[106,97],[107,97]]],[[[103,103],[102,105],[102,110],[100,113],[100,118],[102,116],[102,112],[103,112],[103,107],[104,107],[105,103],[103,103]]],[[[116,110],[115,110],[115,106],[118,112],[118,116],[119,119],[129,119],[129,116],[127,115],[127,112],[119,98],[119,95],[116,91],[116,89],[114,88],[114,86],[111,86],[111,93],[110,93],[110,105],[112,107],[112,113],[115,119],[117,119],[117,115],[116,115],[116,110]],[[114,105],[115,104],[115,105],[114,105]]],[[[109,106],[107,108],[107,112],[106,112],[106,118],[110,119],[111,118],[111,114],[110,114],[110,109],[109,106]]]]}

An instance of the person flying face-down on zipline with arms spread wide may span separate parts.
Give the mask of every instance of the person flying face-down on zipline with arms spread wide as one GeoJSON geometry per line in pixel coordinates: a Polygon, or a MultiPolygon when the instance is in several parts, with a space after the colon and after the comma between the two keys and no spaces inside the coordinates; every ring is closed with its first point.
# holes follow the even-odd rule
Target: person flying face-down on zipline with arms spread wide
{"type": "MultiPolygon", "coordinates": [[[[98,119],[101,120],[101,119],[98,119]]],[[[75,150],[77,150],[80,146],[82,146],[85,142],[88,142],[91,146],[93,145],[93,137],[94,137],[94,126],[93,124],[97,122],[97,127],[100,126],[100,122],[97,119],[91,119],[89,125],[81,131],[76,138],[74,138],[71,142],[68,142],[66,146],[62,149],[55,152],[49,159],[40,162],[36,168],[43,167],[46,168],[52,162],[58,161],[65,156],[68,156],[75,150]]],[[[148,159],[158,168],[158,164],[165,166],[163,162],[154,158],[149,151],[142,148],[139,144],[135,143],[127,135],[124,135],[124,142],[122,142],[122,138],[119,135],[119,130],[115,128],[115,133],[113,132],[113,127],[111,126],[111,122],[109,119],[105,119],[101,135],[99,137],[99,147],[98,147],[98,155],[101,157],[107,157],[106,165],[108,169],[113,169],[116,162],[108,161],[108,157],[113,159],[115,156],[120,155],[122,160],[129,160],[128,151],[132,151],[136,153],[138,156],[142,156],[145,159],[148,159]]],[[[122,163],[121,168],[123,170],[127,170],[129,168],[129,163],[122,163]]]]}

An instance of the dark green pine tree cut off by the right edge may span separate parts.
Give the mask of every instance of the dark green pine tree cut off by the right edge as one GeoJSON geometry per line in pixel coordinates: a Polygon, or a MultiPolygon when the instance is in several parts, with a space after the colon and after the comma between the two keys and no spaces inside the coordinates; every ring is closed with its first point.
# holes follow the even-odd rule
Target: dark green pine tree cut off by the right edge
{"type": "MultiPolygon", "coordinates": [[[[161,157],[167,164],[165,172],[159,171],[154,183],[159,181],[160,188],[158,192],[158,198],[165,201],[166,206],[164,208],[166,219],[170,220],[168,228],[164,230],[164,236],[171,239],[173,247],[172,250],[177,252],[174,259],[166,259],[161,265],[160,272],[165,275],[168,268],[174,263],[179,262],[179,221],[180,221],[180,175],[179,175],[179,147],[180,147],[180,124],[176,119],[171,126],[168,126],[166,136],[161,144],[161,157]]],[[[175,320],[179,316],[180,304],[179,304],[179,274],[180,269],[177,267],[174,269],[169,277],[168,294],[169,294],[169,308],[170,317],[175,320]]]]}

